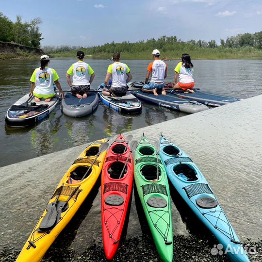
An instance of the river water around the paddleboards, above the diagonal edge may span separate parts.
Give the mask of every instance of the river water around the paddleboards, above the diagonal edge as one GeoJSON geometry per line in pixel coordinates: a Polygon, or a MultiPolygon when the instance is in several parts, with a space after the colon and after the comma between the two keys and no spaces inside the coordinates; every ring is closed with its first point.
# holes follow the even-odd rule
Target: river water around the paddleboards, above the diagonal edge
{"type": "MultiPolygon", "coordinates": [[[[95,71],[93,88],[104,81],[109,60],[86,59],[95,71]]],[[[56,69],[64,90],[66,70],[75,62],[74,58],[52,59],[50,67],[56,69]]],[[[132,81],[145,79],[149,60],[123,61],[131,68],[132,81]]],[[[174,79],[174,68],[179,61],[167,61],[166,81],[174,79]]],[[[196,60],[193,61],[196,86],[202,91],[249,98],[262,93],[262,60],[196,60]]],[[[70,118],[61,114],[59,106],[49,118],[28,128],[10,128],[5,125],[7,109],[17,99],[29,93],[29,79],[39,61],[0,61],[0,166],[13,164],[47,153],[55,152],[87,141],[113,136],[186,115],[143,102],[139,115],[118,114],[100,104],[96,112],[82,118],[70,118]]]]}

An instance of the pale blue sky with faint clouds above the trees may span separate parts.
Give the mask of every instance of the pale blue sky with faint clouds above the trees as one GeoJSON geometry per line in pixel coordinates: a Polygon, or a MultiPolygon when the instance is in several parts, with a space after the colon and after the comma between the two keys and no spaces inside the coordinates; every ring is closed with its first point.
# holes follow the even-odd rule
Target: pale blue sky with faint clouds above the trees
{"type": "Polygon", "coordinates": [[[262,31],[261,0],[0,0],[12,21],[40,17],[42,46],[95,46],[176,35],[216,40],[262,31]]]}

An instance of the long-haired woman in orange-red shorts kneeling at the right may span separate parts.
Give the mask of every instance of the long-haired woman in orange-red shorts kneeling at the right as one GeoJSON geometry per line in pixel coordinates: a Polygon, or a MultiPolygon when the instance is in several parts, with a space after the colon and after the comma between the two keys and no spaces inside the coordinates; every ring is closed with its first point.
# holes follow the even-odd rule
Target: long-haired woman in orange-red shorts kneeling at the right
{"type": "Polygon", "coordinates": [[[175,68],[175,81],[173,88],[178,89],[176,91],[185,93],[195,93],[192,88],[195,85],[194,79],[193,79],[193,64],[191,63],[191,58],[189,54],[182,54],[181,62],[178,63],[178,65],[175,68]],[[178,82],[179,77],[179,82],[178,82]],[[182,91],[182,90],[183,91],[182,91]]]}

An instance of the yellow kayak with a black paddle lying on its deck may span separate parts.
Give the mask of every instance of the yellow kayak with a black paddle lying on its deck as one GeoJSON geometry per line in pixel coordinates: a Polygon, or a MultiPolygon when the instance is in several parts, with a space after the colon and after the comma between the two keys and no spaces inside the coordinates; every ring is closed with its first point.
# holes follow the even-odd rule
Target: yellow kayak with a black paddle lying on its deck
{"type": "Polygon", "coordinates": [[[102,170],[108,147],[104,142],[102,139],[89,145],[66,171],[16,262],[40,262],[80,208],[102,170]]]}

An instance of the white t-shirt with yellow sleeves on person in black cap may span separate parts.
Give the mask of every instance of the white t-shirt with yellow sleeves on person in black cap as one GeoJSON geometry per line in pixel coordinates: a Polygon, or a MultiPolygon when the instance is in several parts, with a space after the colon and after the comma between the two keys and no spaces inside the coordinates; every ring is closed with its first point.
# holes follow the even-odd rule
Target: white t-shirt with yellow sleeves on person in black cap
{"type": "Polygon", "coordinates": [[[73,85],[87,85],[89,84],[89,76],[94,73],[94,70],[88,64],[78,61],[69,67],[68,75],[73,75],[73,85]]]}

